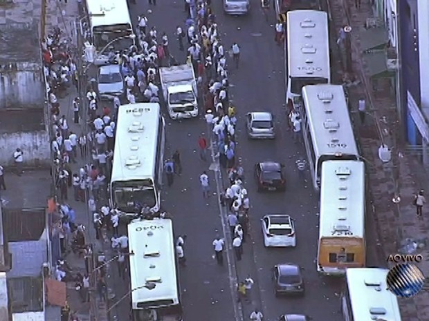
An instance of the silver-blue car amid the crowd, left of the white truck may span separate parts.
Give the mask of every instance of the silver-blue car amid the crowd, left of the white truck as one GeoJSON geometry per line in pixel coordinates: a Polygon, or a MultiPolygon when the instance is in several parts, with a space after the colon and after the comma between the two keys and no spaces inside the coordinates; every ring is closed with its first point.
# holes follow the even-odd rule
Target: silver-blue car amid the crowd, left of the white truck
{"type": "Polygon", "coordinates": [[[124,79],[119,65],[102,66],[98,69],[98,93],[101,99],[113,99],[125,92],[124,79]]]}

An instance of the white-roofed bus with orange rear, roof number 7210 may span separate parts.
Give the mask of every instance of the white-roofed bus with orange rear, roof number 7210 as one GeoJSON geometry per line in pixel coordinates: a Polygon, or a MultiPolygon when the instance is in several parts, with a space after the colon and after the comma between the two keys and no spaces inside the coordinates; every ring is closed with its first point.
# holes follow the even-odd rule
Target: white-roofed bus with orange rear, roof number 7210
{"type": "Polygon", "coordinates": [[[322,164],[318,272],[344,275],[365,266],[365,164],[328,160],[322,164]]]}

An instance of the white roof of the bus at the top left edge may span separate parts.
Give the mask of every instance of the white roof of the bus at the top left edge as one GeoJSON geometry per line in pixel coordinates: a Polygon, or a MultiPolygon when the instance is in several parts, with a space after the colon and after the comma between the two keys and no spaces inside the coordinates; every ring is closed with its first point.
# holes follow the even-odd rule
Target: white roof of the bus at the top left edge
{"type": "Polygon", "coordinates": [[[86,8],[91,28],[126,23],[132,28],[127,0],[86,0],[86,8]]]}

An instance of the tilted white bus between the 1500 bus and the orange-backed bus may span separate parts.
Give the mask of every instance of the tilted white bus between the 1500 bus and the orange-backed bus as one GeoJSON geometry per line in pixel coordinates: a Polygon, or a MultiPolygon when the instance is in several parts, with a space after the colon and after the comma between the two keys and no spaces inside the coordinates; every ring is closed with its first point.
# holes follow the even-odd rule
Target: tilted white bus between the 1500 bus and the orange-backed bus
{"type": "Polygon", "coordinates": [[[343,86],[302,88],[302,135],[313,186],[320,188],[322,163],[328,159],[359,159],[343,86]]]}

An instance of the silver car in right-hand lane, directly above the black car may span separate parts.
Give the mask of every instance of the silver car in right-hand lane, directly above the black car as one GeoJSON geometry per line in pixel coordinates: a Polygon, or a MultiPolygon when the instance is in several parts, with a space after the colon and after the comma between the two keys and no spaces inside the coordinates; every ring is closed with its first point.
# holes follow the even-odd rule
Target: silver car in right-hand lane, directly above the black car
{"type": "Polygon", "coordinates": [[[268,112],[248,113],[246,117],[247,134],[252,139],[274,139],[273,115],[268,112]]]}

